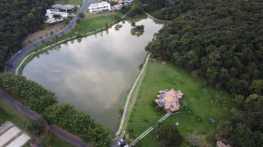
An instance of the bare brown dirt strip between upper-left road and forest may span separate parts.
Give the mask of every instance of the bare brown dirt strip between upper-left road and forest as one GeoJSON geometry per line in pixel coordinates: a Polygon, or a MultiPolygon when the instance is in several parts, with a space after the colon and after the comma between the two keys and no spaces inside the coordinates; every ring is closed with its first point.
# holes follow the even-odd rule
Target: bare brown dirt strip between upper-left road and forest
{"type": "Polygon", "coordinates": [[[33,34],[30,34],[26,37],[26,39],[24,39],[24,41],[22,41],[22,45],[28,46],[30,43],[33,43],[35,41],[39,41],[41,39],[44,39],[46,37],[49,37],[57,32],[60,32],[61,30],[63,30],[64,28],[66,28],[66,23],[62,22],[62,23],[57,23],[53,26],[49,26],[44,28],[43,30],[39,30],[33,34]]]}

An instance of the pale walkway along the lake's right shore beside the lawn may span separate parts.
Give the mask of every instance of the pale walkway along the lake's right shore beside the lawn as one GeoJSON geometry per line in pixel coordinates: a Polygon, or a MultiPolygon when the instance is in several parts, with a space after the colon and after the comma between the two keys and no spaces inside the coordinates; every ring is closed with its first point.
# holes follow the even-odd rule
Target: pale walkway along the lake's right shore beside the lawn
{"type": "MultiPolygon", "coordinates": [[[[149,54],[150,55],[150,54],[149,54]]],[[[147,55],[147,58],[145,60],[145,63],[143,64],[143,68],[142,70],[140,70],[140,74],[138,75],[136,81],[134,82],[134,85],[132,86],[131,90],[129,90],[129,94],[127,96],[127,100],[126,100],[126,103],[125,103],[125,108],[123,110],[123,117],[121,118],[121,121],[120,121],[120,127],[117,131],[117,133],[115,134],[116,136],[120,135],[120,132],[121,130],[123,130],[123,124],[124,124],[124,121],[125,121],[125,116],[126,116],[126,112],[127,112],[127,108],[128,108],[128,105],[129,105],[129,99],[131,99],[131,94],[132,92],[134,92],[134,88],[136,87],[141,75],[143,75],[143,71],[145,70],[145,67],[147,65],[147,62],[149,60],[149,55],[147,55]]]]}

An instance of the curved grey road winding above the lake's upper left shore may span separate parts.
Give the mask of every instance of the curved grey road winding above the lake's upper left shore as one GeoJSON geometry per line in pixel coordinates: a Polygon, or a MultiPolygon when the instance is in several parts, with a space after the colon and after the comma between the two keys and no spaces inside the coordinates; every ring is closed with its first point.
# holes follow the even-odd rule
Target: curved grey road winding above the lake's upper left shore
{"type": "MultiPolygon", "coordinates": [[[[80,8],[80,10],[78,11],[78,13],[80,13],[80,12],[86,12],[87,11],[87,9],[88,9],[88,7],[89,7],[89,5],[91,4],[91,3],[94,3],[96,0],[82,0],[82,6],[81,6],[81,8],[80,8]]],[[[54,39],[56,36],[58,36],[58,37],[61,37],[63,34],[66,34],[66,33],[68,33],[68,32],[70,32],[73,28],[74,28],[74,26],[76,25],[76,20],[78,19],[79,17],[78,17],[78,14],[73,18],[73,21],[71,21],[70,23],[69,23],[69,25],[66,27],[66,28],[64,28],[64,30],[62,30],[62,32],[58,32],[57,34],[55,34],[55,35],[52,35],[52,36],[50,36],[50,37],[46,37],[46,38],[44,38],[44,39],[42,39],[42,40],[39,40],[39,41],[36,41],[35,43],[32,43],[32,44],[30,44],[30,45],[28,45],[28,46],[26,46],[25,48],[23,48],[23,49],[21,49],[21,52],[19,52],[19,53],[17,53],[14,57],[12,57],[12,59],[10,59],[10,61],[9,61],[9,63],[12,65],[12,67],[7,67],[6,68],[6,71],[8,71],[8,72],[11,72],[12,74],[14,74],[15,75],[15,70],[17,69],[17,64],[18,64],[18,62],[19,62],[19,60],[24,56],[24,55],[26,55],[26,53],[29,51],[29,50],[32,50],[33,48],[35,48],[35,46],[39,46],[40,44],[42,44],[42,41],[50,41],[50,40],[52,40],[52,39],[54,39]]]]}

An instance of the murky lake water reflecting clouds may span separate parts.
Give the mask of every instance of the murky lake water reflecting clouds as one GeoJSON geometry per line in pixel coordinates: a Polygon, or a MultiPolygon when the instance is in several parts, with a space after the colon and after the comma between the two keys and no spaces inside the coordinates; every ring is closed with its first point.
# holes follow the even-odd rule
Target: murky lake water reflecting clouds
{"type": "Polygon", "coordinates": [[[23,75],[55,92],[59,101],[89,112],[116,131],[118,110],[147,54],[144,48],[163,24],[146,15],[120,22],[39,55],[28,63],[23,75]],[[133,21],[143,24],[145,31],[131,32],[133,21]]]}

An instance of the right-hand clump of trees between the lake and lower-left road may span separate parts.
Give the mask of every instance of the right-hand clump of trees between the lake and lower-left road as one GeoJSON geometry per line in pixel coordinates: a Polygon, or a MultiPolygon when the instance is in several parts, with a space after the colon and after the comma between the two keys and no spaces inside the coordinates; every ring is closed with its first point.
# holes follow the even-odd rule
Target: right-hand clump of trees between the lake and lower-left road
{"type": "Polygon", "coordinates": [[[86,112],[75,110],[69,104],[54,104],[46,109],[43,117],[89,141],[93,146],[109,146],[111,142],[109,129],[91,119],[86,112]]]}

